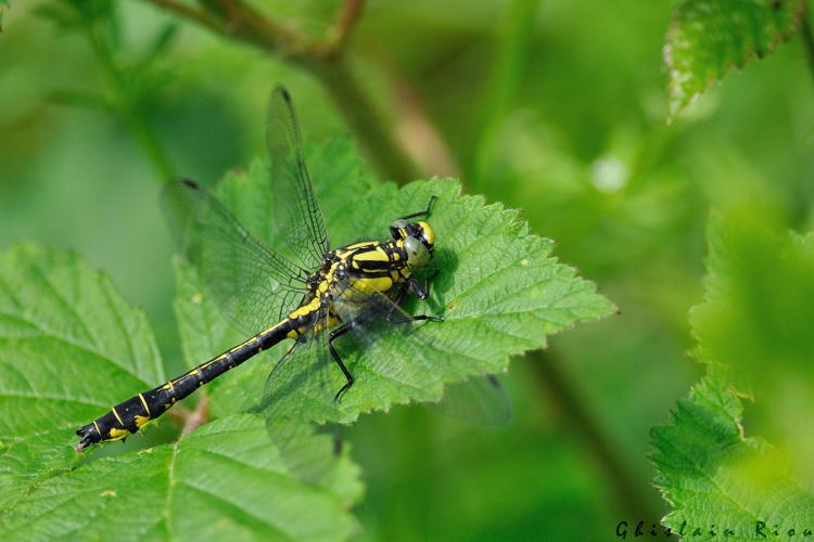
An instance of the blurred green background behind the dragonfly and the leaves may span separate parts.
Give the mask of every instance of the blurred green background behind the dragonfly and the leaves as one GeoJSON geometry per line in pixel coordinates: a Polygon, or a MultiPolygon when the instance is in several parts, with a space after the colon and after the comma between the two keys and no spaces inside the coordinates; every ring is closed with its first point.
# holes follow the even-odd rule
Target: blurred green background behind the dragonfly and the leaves
{"type": "MultiPolygon", "coordinates": [[[[120,115],[64,103],[65,91],[110,93],[111,80],[81,33],[35,14],[43,5],[14,2],[0,35],[0,246],[51,243],[107,270],[147,309],[177,369],[162,176],[120,115]]],[[[256,5],[319,36],[340,2],[256,5]]],[[[399,408],[348,429],[367,486],[361,539],[610,539],[620,520],[650,525],[666,511],[650,481],[648,431],[701,372],[687,353],[688,310],[702,299],[710,209],[774,229],[814,225],[814,94],[799,39],[666,126],[673,9],[366,5],[347,59],[423,172],[457,171],[470,193],[523,209],[621,313],[512,363],[506,427],[399,408]],[[410,124],[417,103],[437,141],[410,124]]],[[[124,66],[178,22],[135,1],[120,2],[115,21],[104,39],[124,66]]],[[[358,137],[311,73],[190,24],[178,22],[150,77],[132,113],[176,172],[206,183],[264,152],[277,82],[294,95],[306,139],[358,137]]]]}

